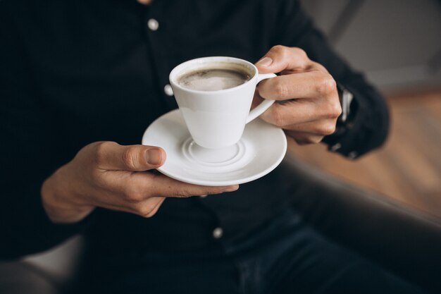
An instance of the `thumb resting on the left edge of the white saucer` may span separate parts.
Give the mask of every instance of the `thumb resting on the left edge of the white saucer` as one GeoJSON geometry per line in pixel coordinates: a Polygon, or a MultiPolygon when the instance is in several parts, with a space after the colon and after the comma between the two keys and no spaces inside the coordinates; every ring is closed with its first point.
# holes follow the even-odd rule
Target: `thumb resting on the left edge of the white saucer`
{"type": "Polygon", "coordinates": [[[99,142],[95,145],[95,160],[100,169],[147,171],[163,165],[166,161],[166,152],[159,147],[123,146],[116,142],[99,142]]]}

